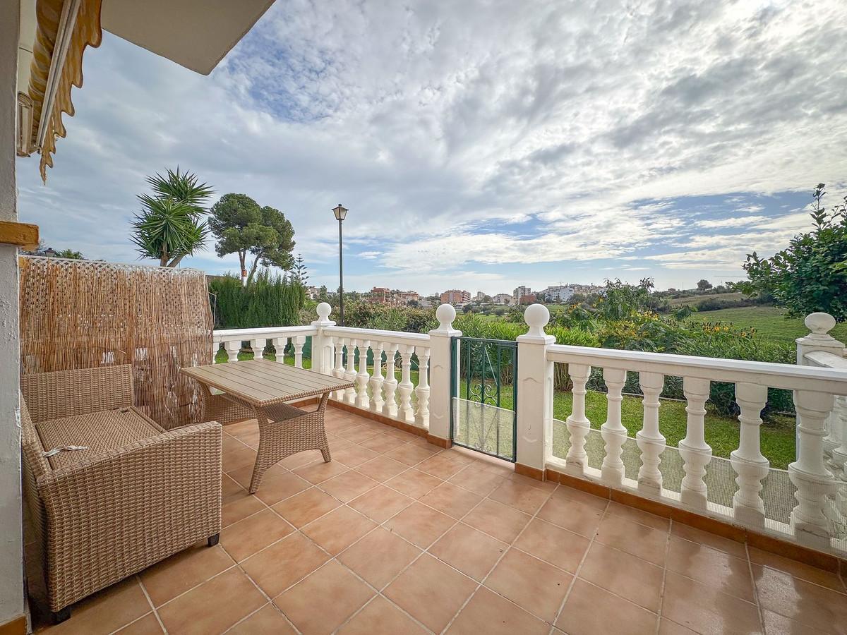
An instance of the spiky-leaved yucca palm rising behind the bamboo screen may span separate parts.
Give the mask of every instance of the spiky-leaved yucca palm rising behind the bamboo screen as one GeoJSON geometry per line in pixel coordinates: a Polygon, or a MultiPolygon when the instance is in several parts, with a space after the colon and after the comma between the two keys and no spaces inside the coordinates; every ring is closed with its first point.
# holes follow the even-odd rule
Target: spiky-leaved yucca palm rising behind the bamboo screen
{"type": "Polygon", "coordinates": [[[168,170],[167,176],[148,176],[153,196],[141,194],[141,213],[132,223],[132,241],[142,258],[158,258],[160,267],[176,267],[202,247],[209,229],[203,207],[213,190],[198,183],[197,175],[168,170]]]}

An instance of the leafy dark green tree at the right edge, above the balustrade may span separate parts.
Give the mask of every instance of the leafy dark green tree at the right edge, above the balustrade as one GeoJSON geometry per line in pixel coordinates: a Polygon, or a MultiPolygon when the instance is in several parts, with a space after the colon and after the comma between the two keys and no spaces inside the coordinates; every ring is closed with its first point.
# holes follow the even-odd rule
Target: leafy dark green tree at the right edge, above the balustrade
{"type": "Polygon", "coordinates": [[[812,194],[811,232],[794,236],[787,249],[771,258],[747,256],[748,282],[737,288],[748,295],[772,295],[789,316],[828,312],[847,319],[847,196],[827,211],[827,192],[819,183],[812,194]]]}

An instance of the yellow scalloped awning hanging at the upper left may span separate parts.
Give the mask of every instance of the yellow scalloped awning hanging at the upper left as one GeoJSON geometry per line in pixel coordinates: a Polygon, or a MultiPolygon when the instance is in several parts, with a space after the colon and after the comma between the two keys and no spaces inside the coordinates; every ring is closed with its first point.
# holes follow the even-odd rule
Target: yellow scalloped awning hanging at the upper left
{"type": "Polygon", "coordinates": [[[56,137],[67,131],[62,113],[74,116],[72,86],[82,86],[82,54],[102,40],[102,0],[36,0],[36,40],[30,65],[32,144],[40,147],[42,180],[53,168],[56,137]]]}

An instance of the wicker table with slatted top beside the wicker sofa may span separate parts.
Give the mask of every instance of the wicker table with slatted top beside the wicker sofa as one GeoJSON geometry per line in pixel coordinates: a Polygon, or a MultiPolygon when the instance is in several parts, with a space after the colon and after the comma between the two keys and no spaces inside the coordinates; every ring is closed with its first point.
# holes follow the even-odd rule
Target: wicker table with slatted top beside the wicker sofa
{"type": "Polygon", "coordinates": [[[266,359],[185,367],[180,372],[202,386],[204,421],[226,425],[257,419],[259,447],[250,481],[251,494],[258,489],[268,467],[286,456],[320,450],[325,462],[331,460],[324,429],[326,402],[329,393],[351,388],[353,382],[266,359]],[[221,392],[214,394],[212,389],[221,392]],[[318,395],[316,410],[291,406],[292,401],[318,395]]]}

